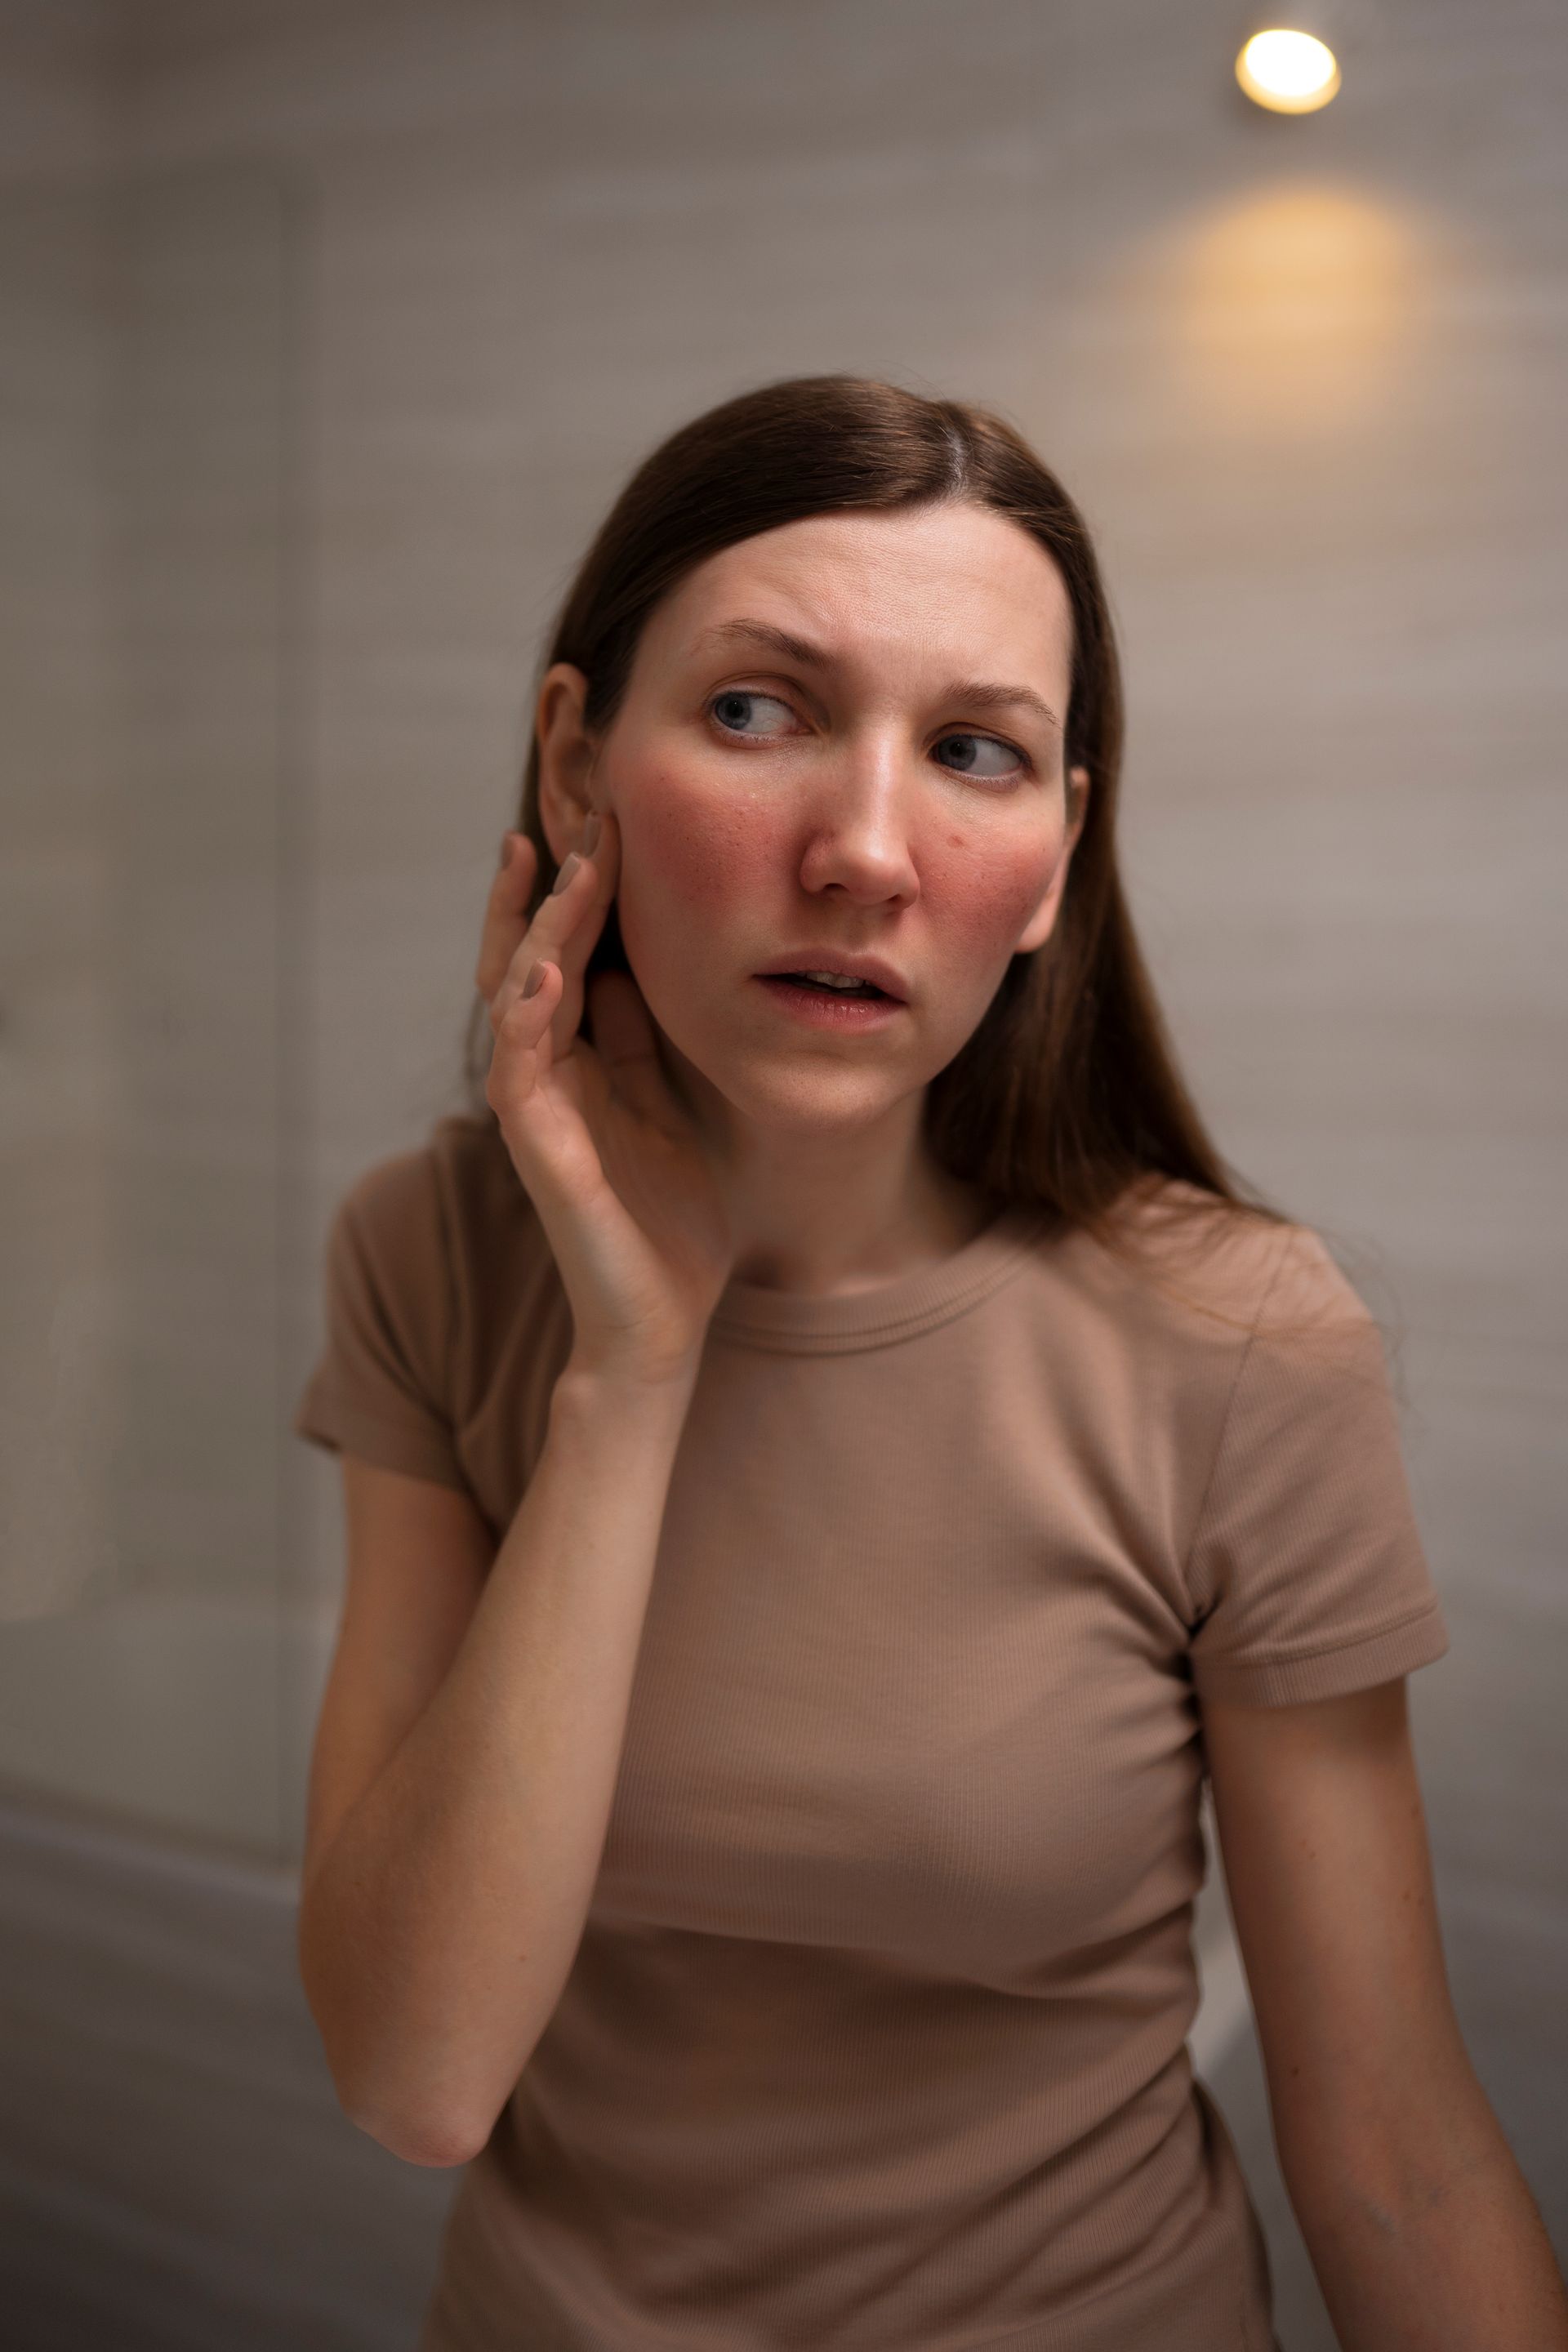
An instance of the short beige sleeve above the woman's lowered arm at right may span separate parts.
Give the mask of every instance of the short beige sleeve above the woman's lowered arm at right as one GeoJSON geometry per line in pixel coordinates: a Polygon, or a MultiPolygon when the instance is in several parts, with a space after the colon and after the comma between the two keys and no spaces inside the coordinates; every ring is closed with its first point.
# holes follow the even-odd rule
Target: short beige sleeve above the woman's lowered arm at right
{"type": "Polygon", "coordinates": [[[1286,1230],[1187,1555],[1199,1698],[1338,1698],[1448,1649],[1375,1317],[1286,1230]]]}

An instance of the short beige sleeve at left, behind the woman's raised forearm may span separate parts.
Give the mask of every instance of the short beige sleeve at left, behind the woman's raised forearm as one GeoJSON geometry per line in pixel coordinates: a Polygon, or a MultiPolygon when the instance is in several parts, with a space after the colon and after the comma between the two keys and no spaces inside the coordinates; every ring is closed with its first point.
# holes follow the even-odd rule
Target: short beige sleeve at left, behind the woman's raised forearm
{"type": "Polygon", "coordinates": [[[468,1486],[451,1414],[454,1275],[430,1150],[369,1169],[327,1237],[327,1336],[294,1435],[468,1486]]]}

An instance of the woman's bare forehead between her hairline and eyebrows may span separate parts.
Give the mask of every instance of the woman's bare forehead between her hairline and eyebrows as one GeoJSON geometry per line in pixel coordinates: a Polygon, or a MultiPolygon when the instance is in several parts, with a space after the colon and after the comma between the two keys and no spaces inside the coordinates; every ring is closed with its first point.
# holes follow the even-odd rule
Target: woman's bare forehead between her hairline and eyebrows
{"type": "Polygon", "coordinates": [[[736,614],[849,663],[931,659],[990,675],[1011,656],[1058,691],[1067,677],[1072,607],[1056,562],[1006,515],[966,503],[806,515],[741,539],[696,564],[644,635],[663,659],[701,659],[693,640],[736,614]]]}

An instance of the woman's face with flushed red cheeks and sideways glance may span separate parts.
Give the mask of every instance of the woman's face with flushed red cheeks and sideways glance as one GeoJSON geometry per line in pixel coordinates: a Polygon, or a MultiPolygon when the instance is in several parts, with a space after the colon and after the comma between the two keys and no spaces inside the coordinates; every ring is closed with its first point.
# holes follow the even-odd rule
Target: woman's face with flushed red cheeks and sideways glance
{"type": "MultiPolygon", "coordinates": [[[[783,524],[654,609],[590,797],[621,826],[628,962],[696,1096],[708,1080],[771,1129],[860,1124],[954,1058],[1060,906],[1088,786],[1074,769],[1070,818],[1070,642],[1051,557],[961,503],[783,524]],[[835,953],[879,957],[903,1007],[830,1025],[757,978],[835,953]]],[[[574,708],[559,663],[548,818],[574,708]]]]}

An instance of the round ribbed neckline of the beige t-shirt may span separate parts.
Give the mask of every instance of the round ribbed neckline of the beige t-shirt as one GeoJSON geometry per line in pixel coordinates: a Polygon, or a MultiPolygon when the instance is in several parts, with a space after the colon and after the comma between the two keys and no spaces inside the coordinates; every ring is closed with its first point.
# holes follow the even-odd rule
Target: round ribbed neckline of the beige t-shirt
{"type": "Polygon", "coordinates": [[[952,1322],[987,1298],[1013,1272],[1048,1223],[1039,1207],[1004,1207],[947,1258],[933,1258],[867,1291],[776,1291],[762,1282],[731,1282],[719,1294],[708,1331],[715,1338],[780,1355],[837,1355],[886,1348],[952,1322]]]}

